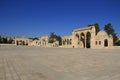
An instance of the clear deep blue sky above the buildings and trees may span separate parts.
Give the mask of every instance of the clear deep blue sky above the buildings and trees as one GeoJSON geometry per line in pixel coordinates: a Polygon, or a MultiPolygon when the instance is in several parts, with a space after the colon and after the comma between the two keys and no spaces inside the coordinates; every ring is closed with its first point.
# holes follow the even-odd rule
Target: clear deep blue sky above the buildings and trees
{"type": "Polygon", "coordinates": [[[0,0],[0,35],[40,37],[99,23],[120,35],[119,0],[0,0]]]}

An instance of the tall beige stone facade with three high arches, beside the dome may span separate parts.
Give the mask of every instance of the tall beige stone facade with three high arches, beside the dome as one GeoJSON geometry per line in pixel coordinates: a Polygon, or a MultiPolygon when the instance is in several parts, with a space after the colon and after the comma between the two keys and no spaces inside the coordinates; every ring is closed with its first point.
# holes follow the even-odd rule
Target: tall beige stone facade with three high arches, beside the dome
{"type": "Polygon", "coordinates": [[[73,30],[73,45],[75,48],[91,48],[95,36],[94,26],[73,30]]]}

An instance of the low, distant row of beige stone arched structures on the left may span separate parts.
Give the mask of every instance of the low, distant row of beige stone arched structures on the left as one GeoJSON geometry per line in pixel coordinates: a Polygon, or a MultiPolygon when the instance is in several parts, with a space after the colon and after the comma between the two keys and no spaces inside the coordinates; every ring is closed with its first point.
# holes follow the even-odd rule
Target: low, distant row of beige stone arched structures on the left
{"type": "Polygon", "coordinates": [[[15,45],[26,45],[26,46],[40,46],[40,47],[58,47],[59,41],[49,43],[48,36],[42,36],[38,40],[32,40],[29,38],[15,38],[15,45]]]}

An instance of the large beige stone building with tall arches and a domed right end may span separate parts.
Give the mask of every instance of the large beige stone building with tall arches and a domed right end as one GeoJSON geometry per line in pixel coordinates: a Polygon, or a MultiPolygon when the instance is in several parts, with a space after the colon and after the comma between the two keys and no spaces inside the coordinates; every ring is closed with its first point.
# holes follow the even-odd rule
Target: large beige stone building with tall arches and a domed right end
{"type": "Polygon", "coordinates": [[[113,46],[113,37],[105,31],[96,34],[94,26],[74,29],[71,36],[62,37],[62,47],[105,48],[113,46]]]}

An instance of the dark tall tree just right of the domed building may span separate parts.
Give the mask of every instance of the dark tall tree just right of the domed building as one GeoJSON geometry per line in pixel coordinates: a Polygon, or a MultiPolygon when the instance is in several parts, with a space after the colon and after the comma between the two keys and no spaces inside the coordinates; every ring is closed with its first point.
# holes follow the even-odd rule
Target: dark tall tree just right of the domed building
{"type": "Polygon", "coordinates": [[[117,43],[118,42],[118,37],[115,33],[115,30],[114,30],[113,26],[110,23],[108,23],[108,24],[105,25],[104,30],[107,32],[108,35],[111,34],[113,36],[113,44],[117,45],[118,44],[117,43]]]}

